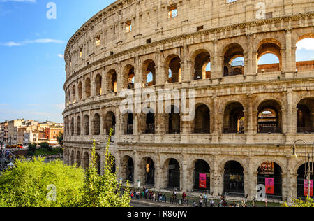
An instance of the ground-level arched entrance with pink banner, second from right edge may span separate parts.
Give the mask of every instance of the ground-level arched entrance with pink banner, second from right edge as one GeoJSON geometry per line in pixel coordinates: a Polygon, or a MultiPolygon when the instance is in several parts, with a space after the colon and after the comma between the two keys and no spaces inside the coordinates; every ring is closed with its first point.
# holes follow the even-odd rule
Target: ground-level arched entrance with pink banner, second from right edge
{"type": "Polygon", "coordinates": [[[264,162],[260,165],[257,171],[257,185],[265,185],[266,197],[283,198],[281,173],[281,167],[274,162],[264,162]]]}

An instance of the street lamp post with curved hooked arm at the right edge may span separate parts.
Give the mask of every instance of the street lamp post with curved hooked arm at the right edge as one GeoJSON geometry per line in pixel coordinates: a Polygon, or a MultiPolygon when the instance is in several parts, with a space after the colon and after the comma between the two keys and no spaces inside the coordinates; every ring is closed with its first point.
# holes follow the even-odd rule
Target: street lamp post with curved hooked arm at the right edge
{"type": "Polygon", "coordinates": [[[293,145],[293,154],[292,154],[292,157],[294,157],[295,159],[298,158],[296,144],[299,141],[302,141],[306,146],[304,178],[306,177],[308,180],[308,197],[311,197],[311,175],[313,175],[313,173],[314,173],[314,171],[313,171],[313,169],[314,169],[313,168],[313,166],[314,166],[314,162],[313,162],[314,143],[312,145],[312,156],[311,156],[311,152],[308,152],[308,146],[306,144],[306,141],[301,140],[301,139],[295,141],[294,145],[293,145]]]}

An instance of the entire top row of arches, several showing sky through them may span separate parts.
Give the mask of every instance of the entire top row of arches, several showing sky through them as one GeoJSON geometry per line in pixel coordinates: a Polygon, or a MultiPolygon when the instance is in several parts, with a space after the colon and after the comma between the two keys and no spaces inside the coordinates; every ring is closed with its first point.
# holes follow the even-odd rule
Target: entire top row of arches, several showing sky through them
{"type": "MultiPolygon", "coordinates": [[[[300,38],[299,41],[304,41],[309,38],[313,38],[313,35],[308,34],[300,38]]],[[[299,42],[298,41],[298,42],[299,42]]],[[[275,38],[267,38],[262,40],[256,49],[256,64],[257,70],[253,71],[264,73],[272,71],[281,71],[283,66],[283,45],[275,38]],[[265,58],[266,57],[266,58],[265,58]],[[259,63],[259,61],[261,62],[259,63]],[[273,64],[274,63],[274,64],[273,64]]],[[[248,53],[244,51],[244,46],[240,43],[230,43],[223,49],[223,64],[221,66],[221,73],[224,77],[243,75],[245,64],[247,63],[245,57],[248,53]]],[[[313,55],[314,57],[314,55],[313,55]]],[[[193,79],[202,80],[206,78],[211,78],[211,52],[208,49],[198,49],[191,54],[190,63],[193,66],[193,79]]],[[[314,64],[314,62],[313,62],[314,64]]],[[[305,71],[306,69],[313,69],[313,64],[307,64],[302,62],[297,62],[297,69],[300,71],[305,71]]],[[[172,54],[168,55],[160,67],[156,66],[154,59],[147,59],[142,62],[140,66],[140,76],[136,77],[135,81],[135,66],[132,64],[127,64],[122,69],[122,83],[121,89],[133,89],[135,83],[140,83],[142,87],[150,87],[156,85],[156,69],[160,71],[165,71],[165,78],[163,83],[179,83],[181,82],[181,68],[182,62],[180,55],[172,54]],[[162,70],[164,69],[164,70],[162,70]]],[[[105,93],[117,92],[117,70],[111,69],[107,71],[105,77],[105,84],[103,84],[103,77],[100,73],[96,74],[94,78],[94,95],[99,96],[103,94],[103,87],[105,87],[105,93]]],[[[76,86],[68,88],[67,101],[75,103],[76,101],[81,101],[83,98],[91,97],[91,78],[87,77],[84,79],[84,92],[83,92],[83,82],[82,80],[76,86]]]]}

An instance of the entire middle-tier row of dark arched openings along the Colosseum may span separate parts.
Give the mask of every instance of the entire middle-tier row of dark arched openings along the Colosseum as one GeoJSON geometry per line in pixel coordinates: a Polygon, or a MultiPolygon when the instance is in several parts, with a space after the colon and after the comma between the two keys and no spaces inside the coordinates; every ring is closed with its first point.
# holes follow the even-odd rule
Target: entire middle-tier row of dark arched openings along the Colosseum
{"type": "MultiPolygon", "coordinates": [[[[170,106],[167,115],[164,115],[165,134],[181,134],[181,115],[177,106],[170,106]]],[[[142,122],[142,134],[156,133],[156,114],[151,108],[144,117],[140,118],[142,122]]],[[[225,107],[223,113],[223,134],[244,134],[246,132],[246,111],[244,106],[238,101],[232,101],[225,107]]],[[[257,106],[257,134],[280,134],[282,133],[283,111],[281,104],[275,100],[263,101],[257,106]]],[[[75,118],[70,118],[70,135],[75,135],[75,118]]],[[[89,119],[89,115],[76,117],[76,134],[77,135],[100,135],[102,130],[110,131],[110,128],[116,128],[116,117],[112,111],[102,117],[98,113],[89,119]],[[83,121],[83,122],[82,122],[83,121]],[[91,124],[91,125],[90,125],[91,124]],[[102,128],[103,124],[103,128],[102,128]],[[91,127],[90,127],[91,126],[91,127]]],[[[127,112],[122,117],[123,134],[134,134],[135,115],[127,112]]],[[[67,128],[67,127],[66,127],[67,128]]],[[[195,117],[193,120],[194,134],[211,134],[211,111],[206,104],[197,104],[195,106],[195,117]]],[[[299,101],[297,105],[297,133],[314,132],[314,99],[306,98],[299,101]]],[[[113,134],[114,135],[114,134],[113,134]]]]}

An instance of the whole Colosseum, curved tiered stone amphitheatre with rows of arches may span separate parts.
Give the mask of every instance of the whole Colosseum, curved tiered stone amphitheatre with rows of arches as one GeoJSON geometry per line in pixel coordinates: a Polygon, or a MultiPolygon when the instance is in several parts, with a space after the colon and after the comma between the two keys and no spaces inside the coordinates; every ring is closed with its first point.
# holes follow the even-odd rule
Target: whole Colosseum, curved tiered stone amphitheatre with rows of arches
{"type": "Polygon", "coordinates": [[[96,140],[102,173],[112,128],[131,186],[253,200],[271,180],[269,200],[304,197],[306,145],[297,159],[292,147],[314,142],[314,61],[296,51],[313,24],[312,0],[115,1],[66,46],[65,163],[87,168],[96,140]],[[278,63],[260,64],[267,54],[278,63]],[[143,106],[170,99],[121,111],[125,90],[143,106]]]}

